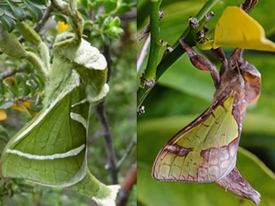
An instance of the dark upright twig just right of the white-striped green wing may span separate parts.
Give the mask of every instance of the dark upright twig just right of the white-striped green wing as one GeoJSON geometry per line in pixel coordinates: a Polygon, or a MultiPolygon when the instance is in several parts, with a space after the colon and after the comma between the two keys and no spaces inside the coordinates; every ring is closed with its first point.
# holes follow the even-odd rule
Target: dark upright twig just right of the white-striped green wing
{"type": "Polygon", "coordinates": [[[97,104],[95,108],[96,108],[96,115],[98,117],[100,125],[102,126],[102,130],[104,130],[104,143],[105,143],[105,149],[107,152],[107,159],[108,159],[106,168],[110,171],[112,184],[117,184],[118,170],[115,167],[115,162],[116,162],[115,150],[113,148],[111,130],[107,122],[107,117],[104,112],[104,102],[97,104]]]}

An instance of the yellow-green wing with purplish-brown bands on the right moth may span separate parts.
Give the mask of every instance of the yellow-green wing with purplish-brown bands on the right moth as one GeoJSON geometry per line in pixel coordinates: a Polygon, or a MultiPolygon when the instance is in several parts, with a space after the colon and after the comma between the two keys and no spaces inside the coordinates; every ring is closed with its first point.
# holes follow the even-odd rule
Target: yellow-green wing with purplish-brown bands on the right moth
{"type": "Polygon", "coordinates": [[[236,164],[239,130],[232,115],[234,97],[213,104],[162,148],[153,164],[159,181],[210,183],[236,164]]]}

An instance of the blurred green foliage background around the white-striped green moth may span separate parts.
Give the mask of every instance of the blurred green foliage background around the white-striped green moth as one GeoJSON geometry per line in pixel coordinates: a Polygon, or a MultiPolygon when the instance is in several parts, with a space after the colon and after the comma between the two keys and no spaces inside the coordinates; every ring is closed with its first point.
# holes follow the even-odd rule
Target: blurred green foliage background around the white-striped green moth
{"type": "MultiPolygon", "coordinates": [[[[111,76],[108,82],[110,91],[104,104],[119,160],[131,141],[136,139],[136,23],[118,14],[130,11],[135,3],[119,0],[111,1],[111,4],[100,0],[78,2],[78,10],[85,20],[84,38],[101,51],[108,46],[111,54],[111,68],[109,69],[111,76]],[[96,5],[91,6],[92,3],[96,5]],[[104,10],[105,13],[102,13],[104,10]],[[100,16],[100,21],[96,16],[100,16]]],[[[45,31],[41,33],[43,40],[50,48],[56,36],[56,21],[66,21],[64,16],[55,12],[52,12],[52,15],[55,21],[50,18],[45,25],[45,31]]],[[[32,25],[32,22],[27,22],[32,25]]],[[[16,29],[12,33],[17,37],[20,36],[16,29]]],[[[22,44],[25,49],[36,51],[36,48],[27,41],[22,44]]],[[[25,60],[17,60],[1,54],[0,65],[0,108],[5,109],[8,115],[8,119],[0,122],[0,150],[3,150],[8,139],[32,118],[31,115],[43,107],[45,79],[25,60]],[[25,108],[28,113],[12,108],[14,103],[21,104],[25,101],[32,105],[30,108],[25,108]]],[[[104,140],[102,135],[98,136],[100,126],[94,110],[91,113],[88,167],[100,181],[110,184],[109,172],[104,169],[104,163],[107,163],[104,140]]],[[[136,152],[133,149],[118,172],[120,183],[135,161],[136,152]]],[[[136,205],[136,188],[133,188],[128,204],[136,205]]],[[[0,179],[0,205],[94,205],[94,202],[78,196],[68,188],[43,187],[22,179],[0,179]]]]}

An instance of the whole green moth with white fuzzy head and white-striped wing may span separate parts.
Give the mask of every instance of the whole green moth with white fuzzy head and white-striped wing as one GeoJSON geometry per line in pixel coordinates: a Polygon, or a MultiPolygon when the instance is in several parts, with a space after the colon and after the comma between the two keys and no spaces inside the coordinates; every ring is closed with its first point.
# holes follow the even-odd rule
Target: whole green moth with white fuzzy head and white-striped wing
{"type": "MultiPolygon", "coordinates": [[[[50,187],[72,187],[98,205],[115,205],[120,186],[100,183],[87,168],[89,108],[109,91],[107,62],[96,47],[81,38],[83,22],[75,12],[76,2],[69,1],[67,9],[74,32],[56,36],[49,68],[45,65],[50,64],[41,58],[38,62],[47,78],[44,107],[5,146],[1,170],[5,177],[50,187]]],[[[21,26],[23,35],[39,38],[28,25],[21,26]]],[[[43,44],[40,41],[34,44],[43,44]]],[[[27,59],[31,56],[28,52],[22,54],[27,59]]]]}

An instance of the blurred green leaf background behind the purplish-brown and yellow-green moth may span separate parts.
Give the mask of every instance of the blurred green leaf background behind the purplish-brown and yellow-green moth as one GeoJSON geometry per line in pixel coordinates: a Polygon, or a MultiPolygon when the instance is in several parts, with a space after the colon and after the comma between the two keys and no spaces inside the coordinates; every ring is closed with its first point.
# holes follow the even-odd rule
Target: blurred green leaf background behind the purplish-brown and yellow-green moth
{"type": "MultiPolygon", "coordinates": [[[[228,5],[244,1],[219,1],[211,11],[210,29],[228,5]]],[[[160,36],[168,45],[174,45],[188,27],[188,18],[195,16],[206,1],[163,1],[160,10],[164,18],[159,23],[160,36]]],[[[264,27],[267,38],[275,38],[275,23],[271,14],[275,3],[259,1],[250,13],[264,27]]],[[[137,32],[148,23],[151,4],[137,1],[137,32]]],[[[137,45],[140,47],[142,43],[137,45]]],[[[161,53],[166,47],[162,48],[161,53]]],[[[229,57],[233,49],[224,48],[229,57]]],[[[221,63],[211,52],[200,52],[217,68],[221,63]]],[[[162,55],[160,55],[162,58],[162,55]]],[[[250,106],[243,124],[240,146],[253,152],[239,150],[237,167],[243,177],[262,195],[261,205],[275,202],[275,55],[267,52],[245,51],[245,60],[252,63],[262,75],[262,93],[259,101],[250,106]],[[265,166],[264,163],[268,166],[265,166]],[[272,172],[273,171],[273,172],[272,172]]],[[[142,69],[146,67],[146,60],[142,69]]],[[[142,70],[141,69],[141,70],[142,70]]],[[[138,77],[141,76],[140,71],[138,77]]],[[[137,79],[138,80],[138,79],[137,79]]],[[[210,106],[214,84],[210,73],[195,69],[187,55],[181,56],[164,73],[144,101],[144,115],[137,117],[137,201],[138,205],[254,205],[211,184],[158,182],[151,177],[151,168],[157,153],[181,128],[188,125],[210,106]],[[150,195],[148,196],[148,193],[150,195]]]]}

